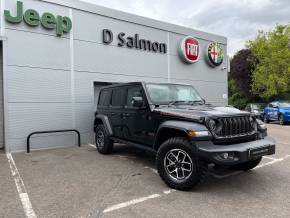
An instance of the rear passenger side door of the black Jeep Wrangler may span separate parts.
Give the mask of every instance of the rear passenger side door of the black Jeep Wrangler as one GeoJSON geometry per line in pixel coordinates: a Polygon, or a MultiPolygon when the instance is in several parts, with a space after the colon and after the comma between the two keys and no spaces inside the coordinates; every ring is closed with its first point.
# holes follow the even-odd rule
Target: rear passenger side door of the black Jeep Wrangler
{"type": "Polygon", "coordinates": [[[113,134],[115,137],[118,138],[123,138],[122,113],[125,104],[125,95],[126,95],[125,87],[113,88],[112,98],[108,111],[108,117],[113,129],[113,134]]]}

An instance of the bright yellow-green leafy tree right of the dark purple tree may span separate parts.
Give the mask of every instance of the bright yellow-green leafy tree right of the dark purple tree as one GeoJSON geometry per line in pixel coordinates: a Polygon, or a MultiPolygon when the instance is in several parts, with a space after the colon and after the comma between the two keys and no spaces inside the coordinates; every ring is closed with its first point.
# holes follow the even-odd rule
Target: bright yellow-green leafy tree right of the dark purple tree
{"type": "Polygon", "coordinates": [[[277,25],[272,32],[259,31],[247,42],[252,60],[252,92],[265,100],[289,96],[290,93],[290,37],[289,25],[277,25]]]}

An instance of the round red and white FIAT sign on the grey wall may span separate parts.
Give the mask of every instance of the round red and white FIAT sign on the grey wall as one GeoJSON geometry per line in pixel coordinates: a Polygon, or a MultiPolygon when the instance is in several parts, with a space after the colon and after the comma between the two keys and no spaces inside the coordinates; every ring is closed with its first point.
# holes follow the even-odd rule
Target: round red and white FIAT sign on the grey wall
{"type": "Polygon", "coordinates": [[[197,62],[199,58],[199,52],[199,42],[197,39],[191,36],[187,36],[181,40],[178,53],[183,61],[188,64],[197,62]]]}

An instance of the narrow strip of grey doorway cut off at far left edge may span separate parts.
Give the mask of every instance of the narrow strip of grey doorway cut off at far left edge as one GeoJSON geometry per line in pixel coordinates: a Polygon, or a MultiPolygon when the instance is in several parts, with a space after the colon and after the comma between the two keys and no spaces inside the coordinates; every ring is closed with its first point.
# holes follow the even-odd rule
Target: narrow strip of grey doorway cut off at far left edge
{"type": "Polygon", "coordinates": [[[0,42],[0,148],[4,147],[4,110],[3,110],[3,52],[0,42]]]}

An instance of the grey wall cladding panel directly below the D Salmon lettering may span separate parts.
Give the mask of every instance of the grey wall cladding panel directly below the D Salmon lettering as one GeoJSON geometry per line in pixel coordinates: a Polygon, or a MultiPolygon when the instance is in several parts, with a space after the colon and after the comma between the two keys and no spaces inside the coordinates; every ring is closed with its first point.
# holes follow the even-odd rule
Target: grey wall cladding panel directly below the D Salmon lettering
{"type": "Polygon", "coordinates": [[[83,41],[74,41],[74,54],[76,71],[167,77],[162,54],[83,41]]]}

